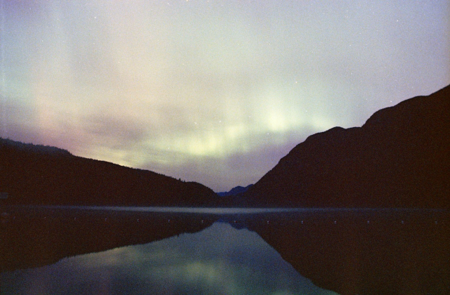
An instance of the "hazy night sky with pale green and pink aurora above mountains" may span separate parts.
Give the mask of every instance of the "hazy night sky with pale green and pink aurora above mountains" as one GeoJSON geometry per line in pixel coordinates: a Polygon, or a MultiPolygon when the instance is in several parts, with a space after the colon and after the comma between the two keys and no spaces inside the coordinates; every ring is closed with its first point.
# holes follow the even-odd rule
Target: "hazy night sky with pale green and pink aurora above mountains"
{"type": "Polygon", "coordinates": [[[215,191],[450,84],[450,1],[0,3],[0,137],[215,191]]]}

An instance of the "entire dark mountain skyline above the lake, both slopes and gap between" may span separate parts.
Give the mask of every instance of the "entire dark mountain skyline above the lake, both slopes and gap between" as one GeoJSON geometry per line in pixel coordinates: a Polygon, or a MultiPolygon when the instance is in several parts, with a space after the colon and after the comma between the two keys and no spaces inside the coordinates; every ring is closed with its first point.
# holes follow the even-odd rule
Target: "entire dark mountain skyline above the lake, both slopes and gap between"
{"type": "Polygon", "coordinates": [[[449,110],[450,86],[404,100],[364,126],[309,136],[255,185],[217,194],[200,183],[0,138],[0,192],[9,196],[0,202],[449,209],[449,110]]]}

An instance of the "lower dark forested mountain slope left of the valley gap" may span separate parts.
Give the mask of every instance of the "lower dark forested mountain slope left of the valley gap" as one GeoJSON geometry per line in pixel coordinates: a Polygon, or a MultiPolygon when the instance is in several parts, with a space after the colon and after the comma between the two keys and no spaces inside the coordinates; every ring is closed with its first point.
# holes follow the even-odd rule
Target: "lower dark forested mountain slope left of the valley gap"
{"type": "Polygon", "coordinates": [[[3,138],[0,192],[8,192],[4,204],[204,206],[217,199],[200,183],[3,138]]]}

